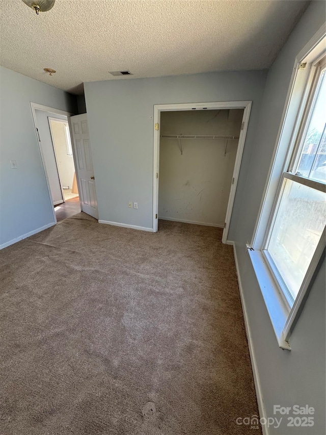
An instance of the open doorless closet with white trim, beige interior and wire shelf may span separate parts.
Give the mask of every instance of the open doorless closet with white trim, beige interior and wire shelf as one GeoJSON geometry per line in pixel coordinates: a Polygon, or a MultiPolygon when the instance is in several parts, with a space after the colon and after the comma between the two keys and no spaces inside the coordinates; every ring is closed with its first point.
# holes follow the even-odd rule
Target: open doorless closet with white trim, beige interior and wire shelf
{"type": "Polygon", "coordinates": [[[251,104],[184,106],[154,110],[153,231],[164,221],[213,226],[228,243],[251,104]]]}

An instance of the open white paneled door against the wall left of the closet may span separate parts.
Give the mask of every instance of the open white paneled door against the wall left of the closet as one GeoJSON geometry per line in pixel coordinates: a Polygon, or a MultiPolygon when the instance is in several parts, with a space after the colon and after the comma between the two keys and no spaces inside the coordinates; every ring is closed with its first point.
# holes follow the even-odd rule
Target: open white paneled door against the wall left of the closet
{"type": "Polygon", "coordinates": [[[88,133],[87,114],[70,117],[76,176],[82,211],[98,219],[95,178],[88,133]]]}

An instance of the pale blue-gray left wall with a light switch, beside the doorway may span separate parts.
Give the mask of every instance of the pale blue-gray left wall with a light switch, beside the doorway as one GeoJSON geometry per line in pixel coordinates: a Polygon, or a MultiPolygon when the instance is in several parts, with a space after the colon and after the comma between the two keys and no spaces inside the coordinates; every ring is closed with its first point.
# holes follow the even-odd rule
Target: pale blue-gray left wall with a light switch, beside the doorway
{"type": "Polygon", "coordinates": [[[30,101],[75,112],[75,97],[0,68],[0,246],[52,220],[30,101]],[[18,168],[11,169],[10,160],[18,168]]]}

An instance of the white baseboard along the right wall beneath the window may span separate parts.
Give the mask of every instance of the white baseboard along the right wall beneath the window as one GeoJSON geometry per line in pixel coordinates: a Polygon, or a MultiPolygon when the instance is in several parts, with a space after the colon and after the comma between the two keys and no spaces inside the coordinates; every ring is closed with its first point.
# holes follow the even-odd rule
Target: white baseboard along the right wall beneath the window
{"type": "MultiPolygon", "coordinates": [[[[257,363],[256,363],[256,356],[255,356],[254,347],[253,347],[251,330],[250,330],[249,321],[248,321],[246,302],[244,301],[244,294],[243,294],[243,288],[242,288],[242,283],[241,283],[241,277],[239,274],[239,264],[238,264],[238,259],[236,256],[235,244],[234,244],[234,242],[229,242],[229,241],[227,241],[227,243],[233,245],[235,268],[236,268],[236,274],[238,277],[238,284],[239,284],[240,299],[241,299],[241,305],[242,305],[242,311],[243,311],[244,325],[246,326],[246,331],[247,331],[248,347],[249,347],[249,353],[250,353],[251,366],[252,366],[253,375],[254,375],[254,383],[255,383],[255,390],[256,390],[256,396],[257,396],[259,415],[260,415],[260,418],[267,419],[263,395],[261,392],[261,385],[260,385],[259,373],[258,373],[258,368],[257,368],[257,363]]],[[[251,416],[248,416],[248,417],[251,417],[251,416]]],[[[263,435],[269,435],[268,427],[265,424],[261,425],[261,429],[262,429],[263,435]]]]}

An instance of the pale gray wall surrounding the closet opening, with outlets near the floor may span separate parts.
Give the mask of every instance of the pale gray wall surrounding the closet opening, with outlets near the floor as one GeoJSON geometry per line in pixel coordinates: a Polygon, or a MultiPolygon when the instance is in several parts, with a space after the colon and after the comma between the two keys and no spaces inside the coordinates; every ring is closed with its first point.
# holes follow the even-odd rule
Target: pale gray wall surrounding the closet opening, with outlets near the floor
{"type": "MultiPolygon", "coordinates": [[[[265,79],[265,71],[230,71],[85,83],[99,219],[152,227],[155,104],[252,100],[234,203],[237,216],[265,79]],[[128,201],[137,201],[139,209],[128,209],[128,201]]],[[[231,240],[235,224],[232,217],[231,240]]]]}

